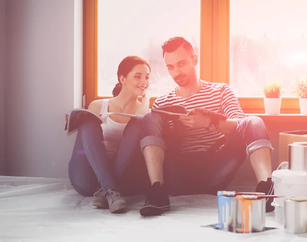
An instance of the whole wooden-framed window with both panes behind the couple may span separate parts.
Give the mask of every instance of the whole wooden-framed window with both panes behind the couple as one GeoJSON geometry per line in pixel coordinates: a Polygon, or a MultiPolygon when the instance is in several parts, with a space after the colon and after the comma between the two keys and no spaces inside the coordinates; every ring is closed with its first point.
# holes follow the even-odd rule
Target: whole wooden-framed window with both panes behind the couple
{"type": "Polygon", "coordinates": [[[279,78],[286,89],[281,113],[299,113],[291,82],[307,75],[306,6],[304,0],[83,0],[85,107],[112,96],[117,67],[130,54],[151,64],[152,97],[172,89],[161,45],[183,35],[199,53],[200,78],[230,84],[244,112],[264,113],[261,86],[279,78]]]}

